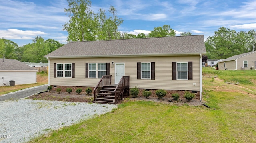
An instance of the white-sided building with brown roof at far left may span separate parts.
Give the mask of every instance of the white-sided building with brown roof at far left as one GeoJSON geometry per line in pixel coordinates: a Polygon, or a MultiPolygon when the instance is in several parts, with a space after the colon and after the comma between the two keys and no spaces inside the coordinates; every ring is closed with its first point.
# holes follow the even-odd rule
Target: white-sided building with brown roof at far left
{"type": "Polygon", "coordinates": [[[36,83],[36,70],[15,59],[0,59],[0,86],[36,83]]]}

